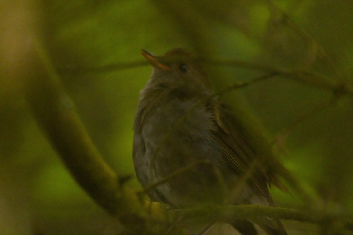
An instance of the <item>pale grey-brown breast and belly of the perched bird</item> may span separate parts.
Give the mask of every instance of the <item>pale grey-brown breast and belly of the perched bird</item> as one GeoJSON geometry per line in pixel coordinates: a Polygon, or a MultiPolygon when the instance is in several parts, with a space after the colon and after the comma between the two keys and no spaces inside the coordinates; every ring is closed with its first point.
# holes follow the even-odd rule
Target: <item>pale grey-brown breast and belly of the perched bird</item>
{"type": "Polygon", "coordinates": [[[217,127],[212,110],[197,99],[178,97],[164,99],[154,106],[153,109],[140,106],[145,113],[140,113],[143,117],[140,129],[135,128],[135,135],[140,131],[135,138],[144,143],[141,167],[148,171],[145,175],[148,180],[142,184],[158,182],[181,170],[156,188],[158,194],[174,198],[174,204],[179,204],[178,198],[184,198],[185,202],[220,198],[216,195],[220,192],[217,184],[220,179],[215,169],[219,171],[226,164],[214,138],[217,127]]]}

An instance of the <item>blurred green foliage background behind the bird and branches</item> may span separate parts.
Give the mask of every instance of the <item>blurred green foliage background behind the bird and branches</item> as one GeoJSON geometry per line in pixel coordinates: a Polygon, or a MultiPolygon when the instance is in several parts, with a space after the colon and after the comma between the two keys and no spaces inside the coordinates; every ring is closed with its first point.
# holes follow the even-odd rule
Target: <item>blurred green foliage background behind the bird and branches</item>
{"type": "MultiPolygon", "coordinates": [[[[184,47],[209,58],[353,82],[349,0],[5,0],[0,12],[0,234],[5,235],[119,230],[72,180],[32,119],[20,92],[26,75],[21,68],[30,61],[24,53],[28,35],[42,38],[91,137],[121,174],[134,172],[132,123],[151,68],[84,68],[143,61],[142,48],[163,54],[184,47]]],[[[207,65],[207,70],[216,90],[259,74],[229,66],[207,65]]],[[[330,98],[330,91],[281,77],[225,97],[252,112],[270,140],[330,98]]],[[[313,209],[353,213],[352,117],[352,97],[344,96],[275,145],[283,164],[319,199],[313,209]]],[[[132,185],[139,187],[136,180],[132,185]]],[[[307,206],[295,193],[273,194],[277,205],[307,206]]]]}

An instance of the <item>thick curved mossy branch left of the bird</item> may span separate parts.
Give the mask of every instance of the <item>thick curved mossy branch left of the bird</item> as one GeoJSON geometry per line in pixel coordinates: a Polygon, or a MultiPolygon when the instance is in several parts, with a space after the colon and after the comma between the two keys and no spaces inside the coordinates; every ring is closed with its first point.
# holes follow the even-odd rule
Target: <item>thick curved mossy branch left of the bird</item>
{"type": "Polygon", "coordinates": [[[23,85],[26,101],[48,141],[86,193],[136,234],[188,234],[172,224],[166,206],[151,203],[126,187],[124,179],[107,165],[37,39],[31,39],[27,56],[30,60],[24,69],[28,78],[23,85]]]}

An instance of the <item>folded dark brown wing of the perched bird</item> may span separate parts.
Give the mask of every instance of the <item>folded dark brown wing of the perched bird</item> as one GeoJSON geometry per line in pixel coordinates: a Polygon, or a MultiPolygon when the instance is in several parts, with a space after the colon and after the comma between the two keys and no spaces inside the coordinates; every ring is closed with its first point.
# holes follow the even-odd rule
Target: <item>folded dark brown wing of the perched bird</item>
{"type": "Polygon", "coordinates": [[[272,181],[271,175],[264,167],[264,158],[267,157],[264,154],[268,151],[257,149],[258,144],[254,143],[256,140],[252,139],[250,130],[232,115],[228,107],[216,102],[211,107],[219,127],[215,138],[222,147],[225,160],[235,171],[245,176],[244,181],[251,180],[269,205],[274,205],[267,186],[272,181]]]}

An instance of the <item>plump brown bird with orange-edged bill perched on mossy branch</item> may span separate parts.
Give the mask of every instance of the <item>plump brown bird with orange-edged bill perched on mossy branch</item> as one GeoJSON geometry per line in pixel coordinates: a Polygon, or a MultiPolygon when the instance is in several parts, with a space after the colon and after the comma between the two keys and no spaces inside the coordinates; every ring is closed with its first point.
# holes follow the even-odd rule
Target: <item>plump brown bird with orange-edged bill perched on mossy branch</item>
{"type": "MultiPolygon", "coordinates": [[[[150,198],[174,208],[225,202],[273,206],[268,185],[280,183],[262,161],[271,150],[260,132],[254,135],[211,96],[209,79],[189,52],[155,56],[142,50],[142,55],[153,70],[140,92],[133,162],[143,187],[164,182],[147,191],[150,198]]],[[[252,222],[267,234],[287,234],[279,219],[229,220],[242,234],[258,234],[252,222]]]]}

